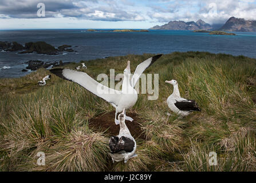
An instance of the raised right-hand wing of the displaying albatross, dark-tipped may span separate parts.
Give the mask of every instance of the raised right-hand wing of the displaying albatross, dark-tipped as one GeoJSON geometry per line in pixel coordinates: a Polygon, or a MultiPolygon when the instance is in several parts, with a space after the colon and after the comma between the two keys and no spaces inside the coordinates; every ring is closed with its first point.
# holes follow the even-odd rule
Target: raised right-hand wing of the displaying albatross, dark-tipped
{"type": "Polygon", "coordinates": [[[140,78],[140,75],[143,73],[145,69],[147,69],[149,66],[152,65],[157,59],[159,59],[162,56],[160,55],[155,55],[153,57],[150,57],[146,59],[145,61],[141,62],[139,65],[137,65],[136,70],[132,76],[132,87],[134,87],[137,83],[137,81],[140,78]]]}

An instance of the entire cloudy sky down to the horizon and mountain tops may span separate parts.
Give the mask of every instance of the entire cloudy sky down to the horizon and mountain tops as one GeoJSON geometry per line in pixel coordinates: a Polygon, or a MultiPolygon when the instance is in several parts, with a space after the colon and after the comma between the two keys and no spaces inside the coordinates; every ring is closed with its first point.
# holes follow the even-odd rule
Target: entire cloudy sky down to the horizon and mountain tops
{"type": "Polygon", "coordinates": [[[256,19],[256,0],[0,0],[0,29],[148,29],[174,20],[225,23],[233,16],[256,19]],[[38,17],[38,3],[45,17],[38,17]]]}

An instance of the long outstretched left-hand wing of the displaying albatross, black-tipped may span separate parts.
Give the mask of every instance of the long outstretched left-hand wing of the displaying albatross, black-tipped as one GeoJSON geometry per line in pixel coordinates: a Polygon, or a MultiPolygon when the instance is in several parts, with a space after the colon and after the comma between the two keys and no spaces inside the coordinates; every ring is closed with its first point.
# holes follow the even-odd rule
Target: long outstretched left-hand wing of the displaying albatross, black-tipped
{"type": "Polygon", "coordinates": [[[89,92],[92,92],[111,104],[115,104],[117,106],[120,101],[122,94],[120,91],[102,85],[84,72],[72,69],[50,69],[50,72],[62,79],[78,83],[89,92]]]}

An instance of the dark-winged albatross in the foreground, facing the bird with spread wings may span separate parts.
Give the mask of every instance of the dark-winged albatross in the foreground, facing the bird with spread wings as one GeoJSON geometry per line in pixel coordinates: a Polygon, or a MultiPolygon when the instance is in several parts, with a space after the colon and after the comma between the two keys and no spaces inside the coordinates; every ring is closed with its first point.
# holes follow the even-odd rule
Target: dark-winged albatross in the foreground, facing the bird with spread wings
{"type": "Polygon", "coordinates": [[[126,164],[130,158],[136,157],[136,141],[132,137],[129,129],[125,125],[125,109],[119,114],[120,130],[118,136],[113,136],[109,139],[109,148],[113,163],[123,161],[126,164]]]}

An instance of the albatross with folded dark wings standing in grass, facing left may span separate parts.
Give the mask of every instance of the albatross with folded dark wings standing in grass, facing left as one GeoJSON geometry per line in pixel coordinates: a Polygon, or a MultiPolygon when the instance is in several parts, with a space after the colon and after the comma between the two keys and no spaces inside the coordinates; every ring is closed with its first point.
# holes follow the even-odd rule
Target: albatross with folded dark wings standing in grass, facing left
{"type": "Polygon", "coordinates": [[[185,98],[180,97],[178,82],[174,79],[171,81],[166,81],[166,83],[170,83],[174,85],[174,92],[167,98],[168,107],[172,112],[178,114],[181,117],[188,116],[191,112],[201,111],[198,107],[198,104],[194,100],[187,100],[185,98]]]}

